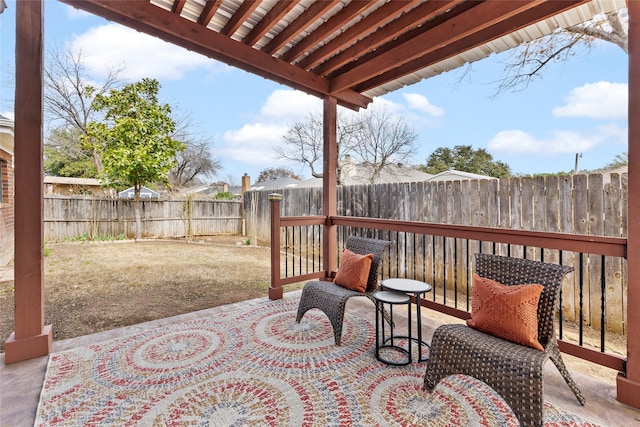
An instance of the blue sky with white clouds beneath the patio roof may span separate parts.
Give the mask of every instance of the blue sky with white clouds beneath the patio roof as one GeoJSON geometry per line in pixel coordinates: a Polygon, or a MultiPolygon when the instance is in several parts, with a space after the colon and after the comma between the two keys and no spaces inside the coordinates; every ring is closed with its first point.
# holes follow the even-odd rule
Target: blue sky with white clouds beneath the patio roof
{"type": "MultiPolygon", "coordinates": [[[[15,57],[15,1],[0,15],[0,114],[13,117],[10,73],[15,57]]],[[[188,114],[221,160],[217,179],[244,173],[252,178],[272,166],[299,164],[275,157],[287,125],[319,111],[318,99],[244,71],[75,10],[45,1],[45,45],[82,49],[92,79],[107,66],[122,65],[130,81],[160,81],[160,97],[188,114]]],[[[627,151],[627,55],[596,43],[591,53],[553,65],[522,92],[495,94],[505,54],[476,62],[461,79],[453,71],[376,99],[412,125],[420,148],[413,164],[425,163],[438,147],[485,148],[513,173],[603,167],[627,151]]]]}

